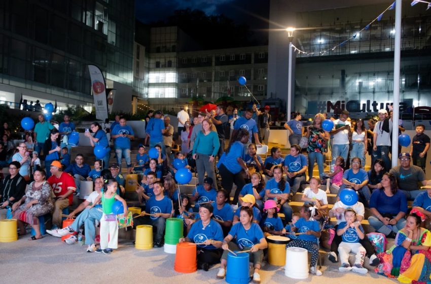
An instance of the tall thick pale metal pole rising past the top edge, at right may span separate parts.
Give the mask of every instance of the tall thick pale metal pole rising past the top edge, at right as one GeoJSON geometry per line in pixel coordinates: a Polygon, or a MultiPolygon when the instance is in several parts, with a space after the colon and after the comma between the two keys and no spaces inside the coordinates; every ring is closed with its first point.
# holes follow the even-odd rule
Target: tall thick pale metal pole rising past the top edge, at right
{"type": "Polygon", "coordinates": [[[393,55],[392,167],[398,165],[398,121],[400,118],[401,4],[402,0],[396,0],[395,52],[393,55]]]}

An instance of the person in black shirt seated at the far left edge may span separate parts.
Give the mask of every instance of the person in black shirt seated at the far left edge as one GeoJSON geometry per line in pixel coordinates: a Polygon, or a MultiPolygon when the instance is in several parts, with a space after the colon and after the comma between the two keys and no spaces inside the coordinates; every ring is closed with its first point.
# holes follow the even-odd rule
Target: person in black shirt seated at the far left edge
{"type": "Polygon", "coordinates": [[[20,168],[20,162],[11,162],[9,174],[0,184],[0,220],[6,219],[7,209],[5,207],[12,207],[12,204],[20,200],[25,193],[26,182],[19,174],[20,168]]]}

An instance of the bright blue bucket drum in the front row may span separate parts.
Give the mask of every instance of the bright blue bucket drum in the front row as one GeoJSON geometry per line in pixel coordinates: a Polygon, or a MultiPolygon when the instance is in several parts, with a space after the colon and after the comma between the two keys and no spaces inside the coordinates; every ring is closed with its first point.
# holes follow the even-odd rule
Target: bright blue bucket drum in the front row
{"type": "Polygon", "coordinates": [[[228,263],[226,266],[226,282],[247,284],[250,281],[248,263],[250,256],[247,253],[228,253],[228,263]]]}

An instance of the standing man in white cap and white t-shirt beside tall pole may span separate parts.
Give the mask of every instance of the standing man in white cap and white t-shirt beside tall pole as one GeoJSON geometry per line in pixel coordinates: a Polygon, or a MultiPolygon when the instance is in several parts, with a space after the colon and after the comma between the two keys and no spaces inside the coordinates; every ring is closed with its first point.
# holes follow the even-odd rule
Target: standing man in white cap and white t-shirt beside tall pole
{"type": "Polygon", "coordinates": [[[374,160],[382,159],[385,163],[385,169],[388,171],[391,167],[389,159],[390,136],[392,133],[392,121],[387,117],[387,111],[379,111],[379,121],[373,130],[373,157],[374,160]]]}

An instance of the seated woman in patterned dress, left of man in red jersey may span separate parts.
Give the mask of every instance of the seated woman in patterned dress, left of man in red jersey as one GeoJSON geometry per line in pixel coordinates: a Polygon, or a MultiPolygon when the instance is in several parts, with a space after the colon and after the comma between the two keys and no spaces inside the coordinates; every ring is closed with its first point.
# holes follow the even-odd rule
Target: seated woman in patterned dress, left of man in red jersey
{"type": "Polygon", "coordinates": [[[39,217],[51,212],[54,208],[51,186],[46,181],[45,170],[35,170],[33,178],[34,182],[28,185],[25,195],[12,205],[13,219],[18,220],[20,235],[25,234],[24,223],[30,224],[34,229],[35,235],[29,240],[37,240],[43,237],[39,217]]]}

